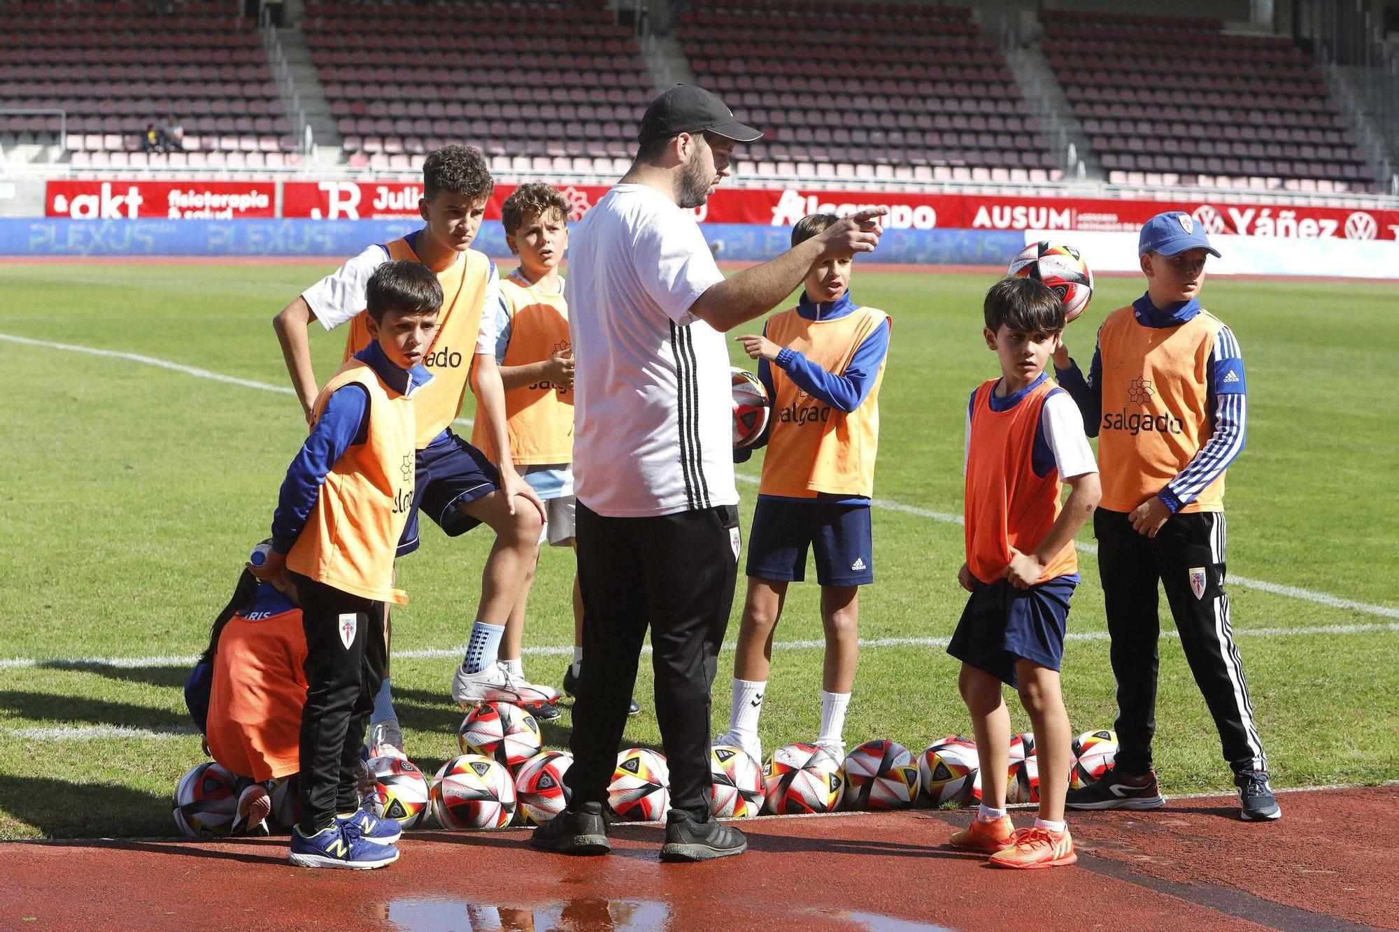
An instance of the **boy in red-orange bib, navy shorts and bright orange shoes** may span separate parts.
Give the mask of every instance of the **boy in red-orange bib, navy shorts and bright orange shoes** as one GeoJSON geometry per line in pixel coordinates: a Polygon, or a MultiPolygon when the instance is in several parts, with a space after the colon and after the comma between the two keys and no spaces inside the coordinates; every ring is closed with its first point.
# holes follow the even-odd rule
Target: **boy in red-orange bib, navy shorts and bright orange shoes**
{"type": "Polygon", "coordinates": [[[1073,536],[1098,504],[1098,467],[1073,399],[1044,372],[1063,305],[1038,281],[1002,278],[983,312],[1000,378],[972,392],[967,407],[967,563],[957,581],[971,598],[947,645],[963,662],[957,684],[977,733],[982,806],[951,844],[989,852],[999,868],[1055,868],[1077,861],[1063,820],[1072,736],[1059,666],[1079,585],[1073,536]],[[1062,509],[1060,483],[1073,490],[1062,509]],[[1020,691],[1039,757],[1039,816],[1020,831],[1006,814],[1002,683],[1020,691]]]}

